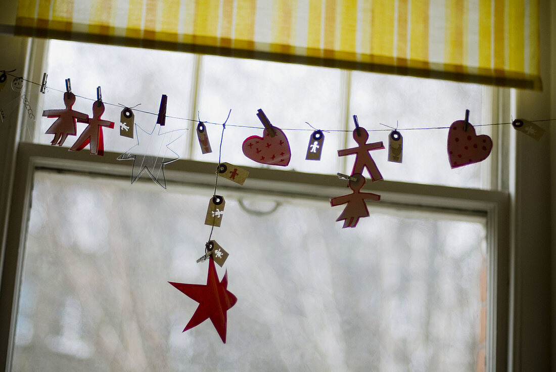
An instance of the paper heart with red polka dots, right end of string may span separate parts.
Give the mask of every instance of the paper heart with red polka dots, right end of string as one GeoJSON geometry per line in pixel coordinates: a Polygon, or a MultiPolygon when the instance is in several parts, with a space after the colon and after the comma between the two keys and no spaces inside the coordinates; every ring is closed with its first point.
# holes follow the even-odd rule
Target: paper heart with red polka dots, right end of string
{"type": "Polygon", "coordinates": [[[450,167],[457,168],[464,165],[478,163],[485,160],[492,150],[492,140],[487,135],[477,136],[475,128],[465,121],[454,121],[448,132],[448,157],[450,167]]]}

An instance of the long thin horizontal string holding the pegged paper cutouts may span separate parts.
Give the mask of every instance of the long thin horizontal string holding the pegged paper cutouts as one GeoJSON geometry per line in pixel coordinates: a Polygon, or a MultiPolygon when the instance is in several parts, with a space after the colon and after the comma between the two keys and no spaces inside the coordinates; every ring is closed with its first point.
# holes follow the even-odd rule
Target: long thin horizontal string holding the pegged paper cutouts
{"type": "MultiPolygon", "coordinates": [[[[3,71],[3,70],[0,70],[3,71]]],[[[8,71],[6,71],[6,75],[12,76],[12,77],[18,77],[21,78],[23,81],[26,81],[30,84],[34,84],[37,86],[42,86],[41,83],[37,83],[31,80],[27,80],[26,78],[23,77],[19,77],[16,75],[13,75],[12,73],[9,73],[8,71]]],[[[59,90],[56,88],[52,88],[50,86],[45,86],[46,88],[48,88],[49,90],[53,90],[56,92],[60,92],[60,93],[65,93],[65,90],[59,90]]],[[[83,100],[89,100],[89,101],[96,101],[96,98],[89,98],[89,97],[85,97],[85,96],[79,96],[79,95],[75,95],[76,97],[80,97],[83,98],[83,100]]],[[[105,105],[108,106],[115,106],[115,107],[122,107],[123,105],[118,104],[116,105],[115,103],[110,103],[110,102],[104,102],[103,103],[105,105]]],[[[138,105],[137,105],[138,106],[138,105]]],[[[135,106],[135,107],[137,107],[135,106]]],[[[149,115],[156,115],[158,116],[158,112],[150,112],[150,111],[144,111],[144,110],[137,110],[137,108],[134,110],[136,112],[142,112],[142,113],[147,113],[149,115]]],[[[185,121],[191,121],[191,122],[197,122],[196,119],[188,119],[185,117],[178,117],[178,116],[170,116],[170,115],[166,115],[167,118],[172,118],[172,119],[176,119],[176,120],[185,120],[185,121]]],[[[227,120],[227,119],[226,119],[227,120]]],[[[542,120],[529,120],[530,122],[543,122],[543,121],[556,121],[556,118],[554,119],[542,119],[542,120]]],[[[205,124],[211,124],[211,125],[223,125],[221,123],[214,123],[214,122],[210,122],[210,121],[204,121],[203,123],[205,124]]],[[[309,123],[307,123],[309,124],[309,123]]],[[[392,128],[388,125],[385,125],[383,123],[379,123],[380,125],[384,125],[388,128],[392,128]]],[[[490,124],[474,124],[474,127],[488,127],[488,126],[495,126],[495,125],[510,125],[512,124],[512,122],[507,122],[507,123],[490,123],[490,124]]],[[[247,125],[233,125],[233,124],[228,124],[227,126],[229,127],[236,127],[236,128],[252,128],[252,129],[264,129],[261,127],[254,127],[254,126],[247,126],[247,125]]],[[[309,126],[311,126],[309,124],[309,126]]],[[[314,129],[314,127],[311,126],[311,128],[314,129]]],[[[425,130],[436,130],[436,129],[449,129],[450,127],[426,127],[426,128],[399,128],[400,131],[425,131],[425,130]]],[[[312,131],[312,129],[307,129],[307,128],[280,128],[282,131],[312,131]]],[[[322,132],[344,132],[344,133],[351,133],[353,132],[352,130],[343,130],[343,129],[329,129],[329,130],[321,130],[322,132]]],[[[386,131],[390,131],[390,129],[368,129],[368,132],[386,132],[386,131]]],[[[222,132],[224,132],[224,129],[222,130],[222,132]]]]}

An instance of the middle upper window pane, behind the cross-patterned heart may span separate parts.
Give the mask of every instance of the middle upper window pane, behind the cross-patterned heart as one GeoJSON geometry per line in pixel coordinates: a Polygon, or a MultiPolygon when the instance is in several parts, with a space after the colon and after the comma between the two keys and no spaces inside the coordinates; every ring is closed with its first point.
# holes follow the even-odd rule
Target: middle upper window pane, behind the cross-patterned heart
{"type": "MultiPolygon", "coordinates": [[[[343,97],[345,98],[345,97],[343,97]]],[[[292,157],[287,167],[311,173],[336,173],[339,171],[336,150],[344,141],[342,132],[325,134],[320,161],[307,161],[305,155],[312,129],[343,130],[341,103],[341,71],[336,68],[312,67],[203,56],[200,89],[201,120],[221,123],[232,109],[229,123],[241,126],[227,127],[222,143],[222,156],[237,165],[261,166],[245,157],[242,143],[249,136],[262,136],[262,123],[256,113],[265,112],[272,125],[296,130],[285,130],[292,157]]],[[[212,148],[220,142],[221,127],[209,126],[212,148]]],[[[216,162],[218,153],[202,155],[193,152],[195,160],[216,162]]]]}

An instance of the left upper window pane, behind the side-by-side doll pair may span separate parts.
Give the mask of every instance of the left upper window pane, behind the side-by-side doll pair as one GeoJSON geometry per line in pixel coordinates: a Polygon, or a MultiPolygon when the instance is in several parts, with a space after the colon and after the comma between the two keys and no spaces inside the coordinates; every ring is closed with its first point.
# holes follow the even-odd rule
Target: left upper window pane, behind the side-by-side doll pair
{"type": "MultiPolygon", "coordinates": [[[[48,85],[65,91],[66,78],[71,79],[72,92],[78,96],[96,99],[96,88],[102,89],[102,100],[133,107],[137,110],[158,113],[162,95],[168,96],[167,115],[188,118],[191,115],[190,97],[193,54],[155,51],[152,49],[116,47],[51,40],[48,42],[48,85]]],[[[49,90],[42,108],[64,108],[63,93],[49,90]]],[[[92,116],[93,101],[77,97],[73,110],[92,116]]],[[[105,105],[102,118],[115,122],[113,129],[103,130],[105,151],[125,152],[137,143],[135,138],[120,136],[120,112],[123,107],[105,105]]],[[[135,122],[147,132],[155,127],[156,115],[134,110],[135,122]]],[[[42,112],[41,112],[42,113],[42,112]]],[[[54,118],[37,115],[38,143],[50,144],[53,135],[44,132],[54,118]]],[[[165,131],[187,128],[189,121],[167,118],[165,131]]],[[[77,123],[77,136],[68,136],[64,146],[71,146],[85,129],[77,123]]],[[[188,146],[188,136],[182,136],[172,148],[183,156],[188,146]]],[[[23,133],[23,138],[27,139],[23,133]]],[[[142,137],[145,139],[145,137],[142,137]]],[[[82,151],[88,151],[86,147],[82,151]]],[[[152,154],[157,155],[157,154],[152,154]]]]}

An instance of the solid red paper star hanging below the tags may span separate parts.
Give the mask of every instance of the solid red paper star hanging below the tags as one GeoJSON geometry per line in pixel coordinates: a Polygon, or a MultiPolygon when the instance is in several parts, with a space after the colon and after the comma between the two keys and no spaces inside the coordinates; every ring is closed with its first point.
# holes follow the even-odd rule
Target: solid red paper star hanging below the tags
{"type": "Polygon", "coordinates": [[[236,296],[226,289],[228,286],[228,272],[226,271],[222,281],[219,281],[214,260],[210,257],[209,276],[206,285],[174,283],[171,281],[168,283],[199,303],[195,314],[193,314],[183,332],[210,318],[222,342],[226,343],[226,311],[234,306],[237,301],[236,296]]]}

